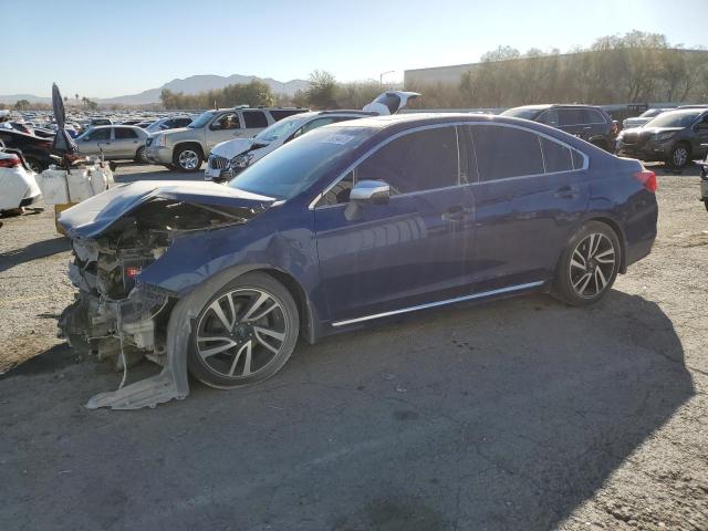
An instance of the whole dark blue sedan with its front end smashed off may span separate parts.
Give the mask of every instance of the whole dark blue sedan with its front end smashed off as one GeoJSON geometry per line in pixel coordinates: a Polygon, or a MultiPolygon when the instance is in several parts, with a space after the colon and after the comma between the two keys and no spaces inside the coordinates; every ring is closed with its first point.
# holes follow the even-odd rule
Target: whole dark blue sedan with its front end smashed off
{"type": "Polygon", "coordinates": [[[187,372],[232,388],[299,337],[466,301],[597,302],[656,237],[656,177],[519,118],[407,114],[314,131],[228,186],[138,181],[64,211],[75,347],[159,375],[88,406],[154,406],[187,372]]]}

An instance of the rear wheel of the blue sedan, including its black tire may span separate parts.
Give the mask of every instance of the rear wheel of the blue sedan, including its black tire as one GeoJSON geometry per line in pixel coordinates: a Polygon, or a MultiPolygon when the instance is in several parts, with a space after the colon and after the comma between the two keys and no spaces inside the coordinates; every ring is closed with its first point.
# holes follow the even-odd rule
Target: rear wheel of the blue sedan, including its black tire
{"type": "Polygon", "coordinates": [[[571,238],[563,251],[552,294],[572,306],[593,304],[610,291],[621,263],[622,246],[615,231],[605,223],[589,221],[571,238]],[[592,249],[591,244],[596,247],[592,249]],[[610,257],[611,267],[607,263],[610,257]]]}

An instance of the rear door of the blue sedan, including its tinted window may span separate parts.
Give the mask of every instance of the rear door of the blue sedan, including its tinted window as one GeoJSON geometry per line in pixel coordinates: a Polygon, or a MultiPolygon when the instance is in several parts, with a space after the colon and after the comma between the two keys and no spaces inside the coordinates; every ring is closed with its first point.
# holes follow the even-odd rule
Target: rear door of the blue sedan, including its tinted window
{"type": "Polygon", "coordinates": [[[469,127],[476,212],[471,274],[480,291],[549,279],[587,208],[586,157],[519,126],[469,127]]]}

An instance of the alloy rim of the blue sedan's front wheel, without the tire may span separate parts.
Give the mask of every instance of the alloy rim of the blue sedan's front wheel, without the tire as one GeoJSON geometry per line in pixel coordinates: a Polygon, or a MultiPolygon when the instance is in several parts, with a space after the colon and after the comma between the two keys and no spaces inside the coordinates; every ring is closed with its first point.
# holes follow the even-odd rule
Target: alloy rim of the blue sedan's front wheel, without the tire
{"type": "Polygon", "coordinates": [[[238,289],[214,300],[197,325],[196,348],[209,371],[250,377],[282,350],[288,320],[282,303],[261,289],[238,289]]]}

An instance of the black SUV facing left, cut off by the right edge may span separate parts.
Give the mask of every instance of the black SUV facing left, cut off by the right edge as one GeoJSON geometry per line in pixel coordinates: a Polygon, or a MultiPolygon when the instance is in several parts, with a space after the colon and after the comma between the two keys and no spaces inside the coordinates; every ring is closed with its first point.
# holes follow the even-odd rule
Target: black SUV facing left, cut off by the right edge
{"type": "Polygon", "coordinates": [[[706,155],[702,144],[708,144],[708,108],[683,108],[620,133],[617,154],[683,168],[706,155]]]}

